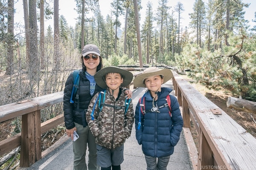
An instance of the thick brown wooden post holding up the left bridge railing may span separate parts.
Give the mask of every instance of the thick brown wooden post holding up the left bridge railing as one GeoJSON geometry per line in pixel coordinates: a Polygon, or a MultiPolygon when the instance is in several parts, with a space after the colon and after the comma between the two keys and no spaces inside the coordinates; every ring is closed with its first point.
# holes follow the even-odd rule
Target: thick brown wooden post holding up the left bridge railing
{"type": "Polygon", "coordinates": [[[39,111],[22,115],[20,167],[30,167],[41,159],[41,114],[39,111]]]}

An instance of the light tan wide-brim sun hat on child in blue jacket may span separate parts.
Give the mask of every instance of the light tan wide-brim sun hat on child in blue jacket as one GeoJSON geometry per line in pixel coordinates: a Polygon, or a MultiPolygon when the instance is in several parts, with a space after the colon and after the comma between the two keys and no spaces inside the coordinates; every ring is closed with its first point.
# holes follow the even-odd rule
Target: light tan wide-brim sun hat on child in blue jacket
{"type": "Polygon", "coordinates": [[[149,67],[145,69],[142,74],[134,78],[134,87],[137,87],[137,88],[146,87],[144,85],[144,80],[148,77],[157,76],[157,75],[163,76],[163,83],[166,83],[169,79],[172,79],[173,77],[172,71],[170,69],[167,69],[167,68],[160,69],[157,67],[149,67]]]}

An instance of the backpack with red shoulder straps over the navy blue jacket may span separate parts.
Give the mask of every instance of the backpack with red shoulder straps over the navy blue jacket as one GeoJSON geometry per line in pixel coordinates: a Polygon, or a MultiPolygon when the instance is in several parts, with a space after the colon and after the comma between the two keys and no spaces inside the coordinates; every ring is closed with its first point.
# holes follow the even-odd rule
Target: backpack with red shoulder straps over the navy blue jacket
{"type": "MultiPolygon", "coordinates": [[[[147,113],[147,112],[154,112],[154,111],[158,111],[160,108],[167,107],[168,110],[169,110],[169,115],[172,117],[172,108],[171,108],[170,95],[166,96],[166,102],[167,103],[163,104],[162,106],[157,106],[156,108],[151,108],[150,110],[145,111],[145,94],[139,99],[139,102],[140,102],[140,113],[145,115],[145,113],[147,113]],[[141,106],[143,106],[143,107],[141,107],[141,106]],[[143,110],[143,108],[144,108],[144,110],[143,110]]],[[[138,130],[140,130],[140,126],[141,126],[141,119],[139,118],[138,130]]]]}

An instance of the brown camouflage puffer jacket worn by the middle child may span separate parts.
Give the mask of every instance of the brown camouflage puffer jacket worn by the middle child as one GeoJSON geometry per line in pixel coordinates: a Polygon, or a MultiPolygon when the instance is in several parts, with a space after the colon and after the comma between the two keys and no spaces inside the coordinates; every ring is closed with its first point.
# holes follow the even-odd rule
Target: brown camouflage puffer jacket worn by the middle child
{"type": "MultiPolygon", "coordinates": [[[[131,129],[134,123],[134,109],[132,101],[129,104],[128,110],[125,114],[125,109],[119,109],[110,107],[124,106],[125,94],[123,89],[121,91],[118,100],[114,99],[109,90],[105,93],[105,105],[102,107],[102,111],[99,113],[97,119],[92,120],[91,113],[93,111],[93,105],[96,102],[96,98],[99,95],[93,96],[86,113],[86,120],[90,127],[95,141],[97,144],[106,147],[108,149],[115,149],[125,143],[125,140],[131,136],[131,129]]],[[[96,117],[98,111],[98,101],[94,110],[94,117],[96,117]]]]}

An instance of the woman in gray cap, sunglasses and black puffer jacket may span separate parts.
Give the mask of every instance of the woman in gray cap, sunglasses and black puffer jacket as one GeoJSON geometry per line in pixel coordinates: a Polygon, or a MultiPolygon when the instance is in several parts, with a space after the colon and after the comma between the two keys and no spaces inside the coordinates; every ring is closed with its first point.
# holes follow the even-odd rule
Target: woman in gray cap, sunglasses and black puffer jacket
{"type": "MultiPolygon", "coordinates": [[[[95,139],[89,130],[85,119],[90,100],[95,94],[102,91],[95,80],[94,75],[102,69],[102,57],[99,48],[96,45],[85,45],[81,56],[82,69],[79,71],[80,82],[76,94],[72,95],[74,79],[73,73],[69,75],[65,83],[63,109],[64,122],[67,128],[67,136],[73,140],[74,131],[79,135],[76,141],[73,141],[74,162],[73,170],[87,170],[85,162],[87,144],[88,144],[88,170],[99,170],[97,165],[97,151],[95,139]],[[74,96],[73,103],[70,102],[71,96],[74,96]]],[[[131,97],[131,91],[125,91],[128,98],[131,97]]]]}

